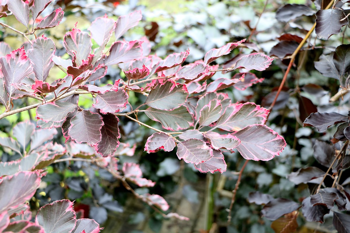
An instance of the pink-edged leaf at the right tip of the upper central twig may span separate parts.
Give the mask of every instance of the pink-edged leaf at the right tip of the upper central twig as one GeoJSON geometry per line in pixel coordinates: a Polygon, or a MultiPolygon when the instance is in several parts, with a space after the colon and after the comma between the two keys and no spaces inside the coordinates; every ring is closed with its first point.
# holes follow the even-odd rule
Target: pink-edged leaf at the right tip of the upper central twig
{"type": "Polygon", "coordinates": [[[235,69],[245,68],[247,70],[264,71],[271,65],[272,61],[273,58],[264,53],[251,53],[241,57],[237,61],[235,69]]]}

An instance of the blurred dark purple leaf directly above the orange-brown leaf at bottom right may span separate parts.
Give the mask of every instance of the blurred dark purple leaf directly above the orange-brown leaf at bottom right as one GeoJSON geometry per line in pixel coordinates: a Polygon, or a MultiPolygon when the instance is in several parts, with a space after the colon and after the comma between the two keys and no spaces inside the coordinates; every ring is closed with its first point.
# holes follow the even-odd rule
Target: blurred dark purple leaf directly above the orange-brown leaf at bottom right
{"type": "Polygon", "coordinates": [[[285,198],[276,198],[269,201],[261,210],[261,214],[269,219],[276,220],[279,217],[299,209],[300,204],[285,198]]]}

